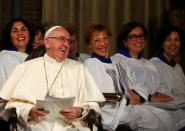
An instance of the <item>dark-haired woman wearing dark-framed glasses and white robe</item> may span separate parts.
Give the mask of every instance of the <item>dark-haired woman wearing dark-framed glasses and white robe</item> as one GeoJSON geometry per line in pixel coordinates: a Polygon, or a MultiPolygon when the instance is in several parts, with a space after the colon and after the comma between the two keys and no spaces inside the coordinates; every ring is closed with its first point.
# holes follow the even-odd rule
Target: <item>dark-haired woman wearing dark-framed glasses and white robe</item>
{"type": "Polygon", "coordinates": [[[118,50],[111,57],[126,70],[130,86],[143,96],[148,91],[149,101],[171,101],[172,98],[158,91],[159,74],[149,60],[142,58],[147,39],[146,28],[137,22],[129,22],[120,29],[118,50]]]}

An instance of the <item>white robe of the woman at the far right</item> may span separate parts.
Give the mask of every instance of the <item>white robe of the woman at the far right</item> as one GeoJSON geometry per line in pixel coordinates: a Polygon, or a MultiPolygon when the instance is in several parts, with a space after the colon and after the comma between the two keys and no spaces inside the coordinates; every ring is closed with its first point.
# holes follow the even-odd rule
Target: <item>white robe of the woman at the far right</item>
{"type": "MultiPolygon", "coordinates": [[[[185,99],[185,76],[181,66],[176,63],[176,65],[172,67],[157,57],[151,58],[150,61],[160,73],[159,88],[163,93],[168,94],[175,99],[185,99]]],[[[176,121],[178,129],[185,126],[184,109],[169,112],[176,121]]]]}

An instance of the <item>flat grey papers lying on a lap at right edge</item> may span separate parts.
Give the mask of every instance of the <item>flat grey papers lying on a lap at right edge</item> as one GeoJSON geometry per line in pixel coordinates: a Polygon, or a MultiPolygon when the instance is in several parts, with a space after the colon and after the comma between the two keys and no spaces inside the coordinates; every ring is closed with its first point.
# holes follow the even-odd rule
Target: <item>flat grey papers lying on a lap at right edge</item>
{"type": "Polygon", "coordinates": [[[185,108],[185,99],[176,99],[170,102],[149,102],[147,104],[158,108],[177,110],[177,109],[185,108]]]}

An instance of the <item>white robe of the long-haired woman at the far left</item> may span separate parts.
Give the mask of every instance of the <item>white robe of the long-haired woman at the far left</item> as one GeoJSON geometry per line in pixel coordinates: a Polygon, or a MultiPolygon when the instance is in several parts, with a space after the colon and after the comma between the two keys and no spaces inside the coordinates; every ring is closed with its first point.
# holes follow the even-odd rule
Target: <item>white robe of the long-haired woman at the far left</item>
{"type": "Polygon", "coordinates": [[[3,50],[0,52],[0,89],[16,67],[23,63],[28,55],[17,51],[3,50]]]}

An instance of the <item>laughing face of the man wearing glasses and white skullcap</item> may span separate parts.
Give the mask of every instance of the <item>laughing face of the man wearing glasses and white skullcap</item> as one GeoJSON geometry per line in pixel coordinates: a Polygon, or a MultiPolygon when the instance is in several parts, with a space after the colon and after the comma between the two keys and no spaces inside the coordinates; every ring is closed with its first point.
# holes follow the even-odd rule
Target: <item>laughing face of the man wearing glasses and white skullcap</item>
{"type": "Polygon", "coordinates": [[[47,54],[57,61],[67,58],[69,52],[70,35],[64,28],[53,30],[44,40],[47,54]]]}

